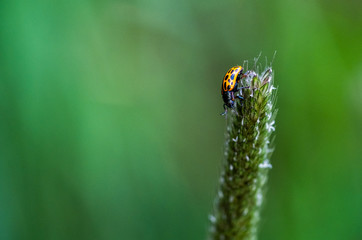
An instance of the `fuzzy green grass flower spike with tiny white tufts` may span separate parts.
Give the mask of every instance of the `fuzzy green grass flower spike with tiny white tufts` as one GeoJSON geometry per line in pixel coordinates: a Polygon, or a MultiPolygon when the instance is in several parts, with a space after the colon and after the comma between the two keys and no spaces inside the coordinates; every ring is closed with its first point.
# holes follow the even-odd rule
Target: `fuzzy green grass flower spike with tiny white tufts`
{"type": "Polygon", "coordinates": [[[273,72],[248,71],[236,102],[227,113],[225,161],[212,223],[212,239],[257,239],[257,224],[271,168],[275,130],[273,72]]]}

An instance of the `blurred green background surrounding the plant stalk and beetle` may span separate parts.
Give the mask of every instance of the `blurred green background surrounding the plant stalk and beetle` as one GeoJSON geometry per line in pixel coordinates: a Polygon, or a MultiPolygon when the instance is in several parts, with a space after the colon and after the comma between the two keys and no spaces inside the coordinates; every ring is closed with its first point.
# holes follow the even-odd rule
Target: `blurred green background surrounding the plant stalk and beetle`
{"type": "Polygon", "coordinates": [[[221,79],[275,50],[260,239],[362,239],[361,9],[1,1],[0,239],[205,239],[221,79]]]}

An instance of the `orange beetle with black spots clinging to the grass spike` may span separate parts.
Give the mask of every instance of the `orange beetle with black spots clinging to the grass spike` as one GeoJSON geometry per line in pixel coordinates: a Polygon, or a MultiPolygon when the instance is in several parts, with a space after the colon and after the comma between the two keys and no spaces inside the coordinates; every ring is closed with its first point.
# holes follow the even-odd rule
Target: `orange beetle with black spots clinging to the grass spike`
{"type": "MultiPolygon", "coordinates": [[[[222,81],[221,85],[221,96],[224,100],[224,110],[225,112],[221,115],[225,115],[227,112],[227,108],[234,108],[235,106],[235,96],[234,93],[238,90],[238,83],[240,79],[243,77],[243,67],[236,66],[229,69],[229,71],[225,74],[225,77],[222,81]]],[[[236,95],[236,94],[235,94],[236,95]]],[[[243,99],[241,96],[236,96],[239,99],[243,99]]]]}

